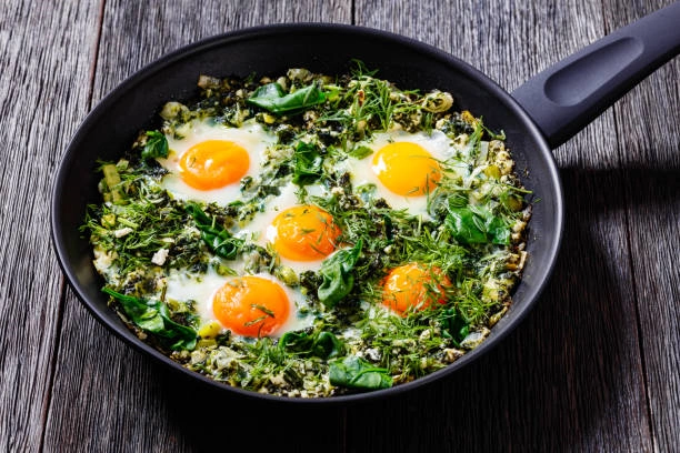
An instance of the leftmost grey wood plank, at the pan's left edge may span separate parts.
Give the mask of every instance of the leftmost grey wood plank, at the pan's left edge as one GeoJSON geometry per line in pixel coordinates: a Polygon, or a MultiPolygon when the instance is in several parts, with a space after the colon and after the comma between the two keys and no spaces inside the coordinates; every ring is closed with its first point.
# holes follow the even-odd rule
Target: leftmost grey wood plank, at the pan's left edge
{"type": "Polygon", "coordinates": [[[0,4],[0,451],[38,451],[43,436],[62,293],[49,193],[87,105],[97,14],[94,2],[0,4]]]}

